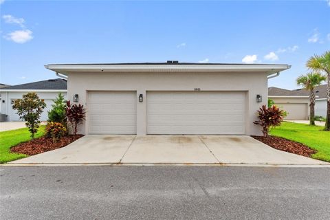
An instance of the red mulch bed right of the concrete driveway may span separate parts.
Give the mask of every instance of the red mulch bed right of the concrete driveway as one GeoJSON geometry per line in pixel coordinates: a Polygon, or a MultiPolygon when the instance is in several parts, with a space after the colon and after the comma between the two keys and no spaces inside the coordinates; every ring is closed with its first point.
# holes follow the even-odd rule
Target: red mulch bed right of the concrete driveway
{"type": "Polygon", "coordinates": [[[272,146],[272,148],[276,148],[280,151],[287,151],[289,153],[295,153],[298,155],[302,155],[305,157],[311,157],[312,154],[316,153],[317,151],[312,150],[305,144],[300,144],[298,142],[294,142],[292,140],[287,140],[283,137],[263,137],[263,136],[251,136],[264,144],[272,146]]]}

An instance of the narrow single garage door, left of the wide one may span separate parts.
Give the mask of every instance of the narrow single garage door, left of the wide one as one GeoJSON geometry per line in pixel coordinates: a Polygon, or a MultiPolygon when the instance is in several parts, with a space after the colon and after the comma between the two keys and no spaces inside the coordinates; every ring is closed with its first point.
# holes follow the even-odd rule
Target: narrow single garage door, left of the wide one
{"type": "Polygon", "coordinates": [[[136,134],[136,92],[90,91],[90,134],[136,134]]]}

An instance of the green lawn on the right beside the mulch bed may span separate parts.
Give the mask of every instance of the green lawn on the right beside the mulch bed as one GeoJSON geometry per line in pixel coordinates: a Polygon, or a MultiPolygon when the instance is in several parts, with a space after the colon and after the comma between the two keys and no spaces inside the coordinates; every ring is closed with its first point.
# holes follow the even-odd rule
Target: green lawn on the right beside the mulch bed
{"type": "Polygon", "coordinates": [[[281,126],[272,129],[271,134],[305,144],[318,151],[312,155],[314,159],[330,162],[330,132],[322,129],[322,126],[283,122],[281,126]]]}

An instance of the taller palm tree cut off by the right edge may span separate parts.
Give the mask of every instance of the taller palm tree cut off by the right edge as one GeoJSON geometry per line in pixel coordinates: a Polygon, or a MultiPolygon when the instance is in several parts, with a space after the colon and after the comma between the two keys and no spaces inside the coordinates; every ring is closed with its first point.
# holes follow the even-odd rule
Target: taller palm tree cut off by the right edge
{"type": "Polygon", "coordinates": [[[330,51],[326,51],[322,56],[314,55],[309,58],[306,66],[316,72],[327,74],[328,93],[327,93],[327,120],[325,120],[325,131],[330,131],[330,51]]]}

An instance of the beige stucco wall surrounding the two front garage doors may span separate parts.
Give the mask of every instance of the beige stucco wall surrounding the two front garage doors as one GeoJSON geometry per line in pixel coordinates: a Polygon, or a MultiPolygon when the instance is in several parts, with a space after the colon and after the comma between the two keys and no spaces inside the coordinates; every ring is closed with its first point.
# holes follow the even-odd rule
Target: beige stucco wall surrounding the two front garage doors
{"type": "Polygon", "coordinates": [[[88,131],[88,91],[136,91],[143,94],[144,102],[137,98],[137,135],[146,134],[146,91],[245,91],[247,135],[261,135],[260,126],[253,124],[256,111],[267,103],[267,74],[264,73],[83,73],[68,74],[68,99],[79,95],[80,104],[87,107],[87,121],[80,127],[80,133],[88,131]],[[263,96],[263,102],[256,102],[256,95],[263,96]]]}

